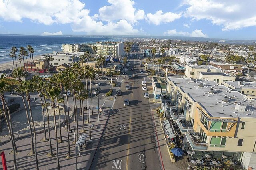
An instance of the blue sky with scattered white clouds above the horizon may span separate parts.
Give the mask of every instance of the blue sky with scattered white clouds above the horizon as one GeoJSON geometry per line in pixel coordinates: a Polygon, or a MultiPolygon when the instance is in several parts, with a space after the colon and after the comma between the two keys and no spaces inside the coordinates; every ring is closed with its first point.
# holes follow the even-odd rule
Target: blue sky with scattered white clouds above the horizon
{"type": "Polygon", "coordinates": [[[256,0],[0,0],[0,33],[256,39],[256,0]]]}

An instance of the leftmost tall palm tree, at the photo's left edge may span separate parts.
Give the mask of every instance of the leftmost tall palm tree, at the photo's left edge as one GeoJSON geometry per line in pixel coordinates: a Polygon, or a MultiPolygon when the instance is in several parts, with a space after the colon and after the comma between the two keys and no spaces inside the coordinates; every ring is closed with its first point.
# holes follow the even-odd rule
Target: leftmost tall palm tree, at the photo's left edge
{"type": "Polygon", "coordinates": [[[0,98],[1,98],[1,101],[2,101],[2,104],[3,104],[4,117],[5,117],[5,120],[6,120],[6,124],[7,124],[8,130],[9,130],[10,139],[11,139],[11,142],[12,142],[12,152],[13,152],[12,154],[13,154],[14,170],[18,170],[17,164],[16,164],[16,152],[18,152],[18,150],[16,148],[16,144],[15,144],[15,140],[14,140],[10,110],[9,110],[9,107],[7,106],[7,104],[6,104],[5,99],[4,99],[4,92],[6,92],[10,87],[8,85],[6,85],[4,79],[5,79],[5,76],[1,75],[1,77],[0,77],[0,98]],[[8,115],[6,114],[6,110],[5,110],[4,106],[6,106],[6,108],[7,108],[8,115]],[[7,117],[9,117],[9,122],[8,122],[7,117]]]}

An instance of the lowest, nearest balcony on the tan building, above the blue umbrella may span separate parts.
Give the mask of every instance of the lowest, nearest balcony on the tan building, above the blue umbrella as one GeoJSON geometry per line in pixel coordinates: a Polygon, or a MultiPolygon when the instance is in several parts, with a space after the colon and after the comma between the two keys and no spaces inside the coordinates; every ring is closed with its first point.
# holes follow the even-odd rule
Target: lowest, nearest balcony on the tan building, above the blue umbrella
{"type": "Polygon", "coordinates": [[[202,140],[202,136],[196,132],[185,132],[185,135],[188,139],[188,142],[193,150],[207,150],[208,143],[200,142],[202,140]]]}

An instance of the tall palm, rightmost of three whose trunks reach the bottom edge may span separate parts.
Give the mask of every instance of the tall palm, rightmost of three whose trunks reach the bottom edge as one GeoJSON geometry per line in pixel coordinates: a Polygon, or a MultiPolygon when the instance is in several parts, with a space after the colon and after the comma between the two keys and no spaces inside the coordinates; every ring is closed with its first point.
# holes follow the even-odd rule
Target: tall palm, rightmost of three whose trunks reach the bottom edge
{"type": "Polygon", "coordinates": [[[59,161],[59,148],[58,148],[58,133],[57,133],[57,123],[56,123],[56,113],[55,113],[55,99],[58,98],[60,94],[60,89],[56,86],[50,87],[47,89],[48,95],[51,99],[51,107],[53,110],[54,118],[54,127],[55,127],[55,142],[56,142],[56,157],[57,157],[57,169],[60,170],[60,161],[59,161]]]}

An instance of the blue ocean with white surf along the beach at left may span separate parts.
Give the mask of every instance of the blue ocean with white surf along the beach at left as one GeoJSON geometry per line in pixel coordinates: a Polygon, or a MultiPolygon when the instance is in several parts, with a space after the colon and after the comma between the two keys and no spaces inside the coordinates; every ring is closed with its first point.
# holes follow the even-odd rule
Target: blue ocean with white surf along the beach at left
{"type": "MultiPolygon", "coordinates": [[[[127,39],[127,38],[126,38],[127,39]]],[[[10,58],[10,49],[15,46],[19,50],[20,47],[31,45],[35,52],[34,56],[42,54],[50,54],[53,51],[61,51],[62,44],[74,43],[94,43],[97,41],[124,41],[124,38],[101,38],[86,36],[25,36],[0,34],[0,63],[12,61],[10,58]]],[[[19,53],[16,53],[18,56],[19,53]]],[[[29,58],[29,57],[28,57],[29,58]]]]}

